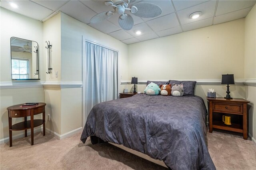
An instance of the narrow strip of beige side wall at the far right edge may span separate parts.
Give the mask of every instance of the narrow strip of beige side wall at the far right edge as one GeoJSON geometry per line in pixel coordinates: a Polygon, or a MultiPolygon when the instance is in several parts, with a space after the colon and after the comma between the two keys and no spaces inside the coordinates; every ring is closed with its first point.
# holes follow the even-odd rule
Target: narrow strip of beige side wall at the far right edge
{"type": "Polygon", "coordinates": [[[256,142],[256,6],[245,18],[244,77],[254,81],[254,86],[245,86],[245,99],[249,105],[249,133],[256,142]]]}

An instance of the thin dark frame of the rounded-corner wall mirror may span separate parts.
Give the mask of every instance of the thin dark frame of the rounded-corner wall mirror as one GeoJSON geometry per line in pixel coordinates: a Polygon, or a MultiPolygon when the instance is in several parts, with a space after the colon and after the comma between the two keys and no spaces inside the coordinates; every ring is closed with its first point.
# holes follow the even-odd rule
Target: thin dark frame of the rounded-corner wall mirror
{"type": "MultiPolygon", "coordinates": [[[[18,38],[18,37],[11,37],[10,38],[10,51],[11,51],[11,77],[12,77],[12,38],[18,38]]],[[[26,40],[24,38],[18,38],[18,39],[22,39],[22,40],[26,40]]],[[[26,41],[30,41],[30,42],[35,42],[36,46],[35,47],[35,51],[32,50],[32,53],[36,53],[36,75],[38,75],[38,78],[35,79],[13,79],[12,80],[40,80],[40,74],[39,74],[39,49],[38,49],[38,43],[36,41],[32,41],[32,40],[26,40],[26,41]]]]}

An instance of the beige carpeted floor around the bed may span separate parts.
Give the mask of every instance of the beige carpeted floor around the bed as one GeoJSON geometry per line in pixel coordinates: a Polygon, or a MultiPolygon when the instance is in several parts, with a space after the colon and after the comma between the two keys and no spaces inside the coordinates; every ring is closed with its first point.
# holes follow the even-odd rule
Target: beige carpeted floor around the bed
{"type": "MultiPolygon", "coordinates": [[[[207,133],[208,148],[219,170],[256,170],[256,144],[241,136],[223,132],[207,133]]],[[[80,141],[80,133],[63,140],[36,133],[34,146],[30,136],[0,145],[0,169],[41,170],[166,170],[166,168],[130,154],[111,144],[92,145],[80,141]]]]}

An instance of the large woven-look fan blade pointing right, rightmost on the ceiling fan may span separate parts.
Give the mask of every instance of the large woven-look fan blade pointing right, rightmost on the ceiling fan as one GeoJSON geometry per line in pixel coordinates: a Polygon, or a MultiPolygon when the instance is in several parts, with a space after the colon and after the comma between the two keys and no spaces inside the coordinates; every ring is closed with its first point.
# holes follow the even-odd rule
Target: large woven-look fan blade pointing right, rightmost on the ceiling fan
{"type": "Polygon", "coordinates": [[[134,4],[138,8],[138,11],[133,13],[135,16],[142,18],[154,18],[162,14],[162,9],[156,4],[151,4],[147,2],[140,2],[134,4]]]}

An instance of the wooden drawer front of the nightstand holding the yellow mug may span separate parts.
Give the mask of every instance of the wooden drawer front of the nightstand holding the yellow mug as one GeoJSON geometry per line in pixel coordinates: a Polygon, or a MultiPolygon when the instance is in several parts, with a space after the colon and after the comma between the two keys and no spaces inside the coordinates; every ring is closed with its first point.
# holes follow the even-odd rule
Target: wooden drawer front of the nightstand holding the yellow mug
{"type": "Polygon", "coordinates": [[[228,113],[240,113],[243,114],[242,104],[232,104],[232,103],[213,103],[213,111],[217,112],[228,112],[228,113]]]}

